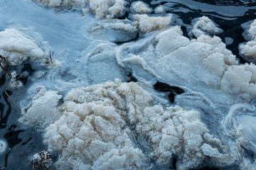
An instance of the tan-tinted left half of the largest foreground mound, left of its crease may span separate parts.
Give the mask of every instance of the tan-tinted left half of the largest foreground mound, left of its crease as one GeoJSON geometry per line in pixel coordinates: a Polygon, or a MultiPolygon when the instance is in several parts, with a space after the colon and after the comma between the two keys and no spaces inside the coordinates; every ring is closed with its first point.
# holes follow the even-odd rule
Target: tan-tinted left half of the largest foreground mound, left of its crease
{"type": "Polygon", "coordinates": [[[129,137],[117,88],[107,83],[73,89],[66,96],[63,115],[45,134],[49,149],[61,153],[59,169],[144,169],[144,154],[129,137]]]}

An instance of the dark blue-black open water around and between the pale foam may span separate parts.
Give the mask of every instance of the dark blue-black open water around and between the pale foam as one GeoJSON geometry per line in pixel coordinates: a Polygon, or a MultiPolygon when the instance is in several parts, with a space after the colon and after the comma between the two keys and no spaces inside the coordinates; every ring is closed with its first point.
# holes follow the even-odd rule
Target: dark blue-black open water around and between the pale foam
{"type": "MultiPolygon", "coordinates": [[[[228,45],[227,48],[240,59],[241,63],[246,62],[239,56],[238,52],[238,45],[241,42],[245,42],[245,39],[242,37],[244,30],[242,30],[241,24],[256,18],[256,1],[184,0],[160,2],[144,0],[144,2],[149,4],[152,8],[159,6],[159,4],[169,6],[169,3],[174,3],[167,13],[175,13],[185,25],[191,24],[191,20],[193,18],[208,16],[224,30],[223,33],[218,35],[223,41],[226,37],[233,38],[233,44],[228,45]]],[[[129,13],[127,13],[126,16],[129,16],[129,13]]],[[[184,26],[182,27],[182,30],[183,34],[188,36],[187,30],[184,26]]],[[[137,35],[134,40],[139,38],[139,35],[137,35]]],[[[117,43],[121,44],[121,42],[117,43]]],[[[23,88],[9,89],[7,91],[14,101],[21,101],[22,96],[26,94],[25,89],[31,85],[29,76],[35,72],[35,69],[33,69],[29,63],[16,68],[17,74],[21,74],[24,71],[28,72],[28,75],[21,79],[24,84],[23,88]]],[[[132,77],[132,74],[129,74],[128,77],[130,78],[130,81],[137,81],[135,77],[132,77]]],[[[4,93],[9,82],[10,78],[6,78],[6,75],[2,74],[0,78],[0,140],[8,142],[9,149],[4,154],[0,154],[0,169],[32,169],[32,165],[27,161],[27,159],[31,159],[33,154],[41,152],[43,149],[47,149],[42,142],[43,132],[18,122],[18,118],[21,117],[21,113],[18,111],[18,108],[16,108],[14,103],[11,102],[10,98],[8,98],[4,93]]],[[[157,84],[155,88],[159,91],[164,91],[163,86],[166,87],[165,84],[157,84]],[[161,88],[159,86],[161,86],[161,88]]],[[[184,92],[182,89],[178,89],[178,87],[175,86],[167,86],[166,88],[169,88],[169,100],[171,102],[174,102],[175,95],[180,94],[180,92],[184,92]]],[[[53,157],[55,156],[53,155],[53,157]]],[[[176,169],[176,163],[174,162],[171,167],[172,169],[176,169]]],[[[206,170],[217,168],[202,165],[200,169],[206,170]]],[[[231,167],[227,167],[227,169],[231,169],[231,167]]]]}

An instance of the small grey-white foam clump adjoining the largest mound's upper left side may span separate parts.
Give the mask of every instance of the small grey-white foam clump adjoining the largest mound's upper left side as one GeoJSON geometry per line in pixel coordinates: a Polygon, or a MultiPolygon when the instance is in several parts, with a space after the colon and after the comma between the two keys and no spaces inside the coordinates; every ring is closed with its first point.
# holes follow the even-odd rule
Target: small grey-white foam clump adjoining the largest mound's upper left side
{"type": "Polygon", "coordinates": [[[46,91],[42,86],[37,89],[38,93],[33,96],[31,105],[27,106],[27,111],[23,111],[23,117],[20,120],[44,129],[60,117],[56,106],[62,96],[58,95],[58,91],[46,91]]]}

